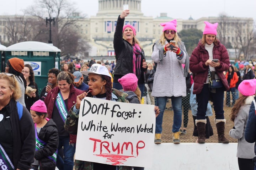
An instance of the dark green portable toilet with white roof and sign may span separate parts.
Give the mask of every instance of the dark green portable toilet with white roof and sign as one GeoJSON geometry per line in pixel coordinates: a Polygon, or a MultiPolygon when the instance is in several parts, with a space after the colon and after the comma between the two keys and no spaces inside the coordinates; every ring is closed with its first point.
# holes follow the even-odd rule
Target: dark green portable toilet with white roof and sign
{"type": "Polygon", "coordinates": [[[60,69],[60,51],[53,44],[36,41],[16,43],[4,50],[5,63],[9,59],[17,57],[23,59],[24,64],[30,64],[40,94],[48,82],[48,71],[51,68],[60,69]]]}

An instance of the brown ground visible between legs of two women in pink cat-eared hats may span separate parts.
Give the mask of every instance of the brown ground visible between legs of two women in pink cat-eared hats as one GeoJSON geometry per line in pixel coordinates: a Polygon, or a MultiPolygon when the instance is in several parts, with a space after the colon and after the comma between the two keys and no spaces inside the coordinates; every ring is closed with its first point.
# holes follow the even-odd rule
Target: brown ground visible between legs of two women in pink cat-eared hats
{"type": "MultiPolygon", "coordinates": [[[[225,105],[225,101],[224,101],[225,105]]],[[[171,102],[167,102],[166,108],[171,107],[171,102]]],[[[213,108],[212,108],[213,109],[213,108]]],[[[224,117],[226,119],[225,124],[225,137],[229,139],[229,142],[237,142],[237,139],[231,138],[229,136],[229,130],[233,128],[234,122],[230,120],[229,114],[231,113],[231,107],[224,106],[224,117]]],[[[217,129],[214,123],[214,110],[213,110],[213,116],[209,116],[210,123],[213,128],[213,136],[211,136],[209,139],[206,139],[206,142],[208,143],[216,143],[218,142],[218,134],[217,129]]],[[[173,123],[173,111],[170,109],[166,109],[164,112],[164,118],[162,123],[162,142],[163,143],[169,143],[172,142],[172,123],[173,123]]],[[[182,127],[183,127],[183,116],[182,116],[182,127]]],[[[191,110],[188,111],[188,126],[187,126],[187,134],[180,135],[181,142],[196,142],[197,137],[192,136],[194,130],[194,124],[193,124],[193,117],[191,110]]]]}

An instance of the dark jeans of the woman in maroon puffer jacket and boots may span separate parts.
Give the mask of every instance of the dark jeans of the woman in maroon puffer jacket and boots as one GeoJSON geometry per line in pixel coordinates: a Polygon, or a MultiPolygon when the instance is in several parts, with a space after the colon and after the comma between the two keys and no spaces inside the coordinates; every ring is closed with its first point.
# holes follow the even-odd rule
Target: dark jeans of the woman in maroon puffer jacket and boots
{"type": "Polygon", "coordinates": [[[209,84],[204,84],[201,93],[196,94],[197,99],[197,120],[206,119],[206,110],[208,101],[213,102],[213,109],[216,119],[224,119],[223,99],[224,87],[216,88],[216,93],[210,92],[209,84]]]}

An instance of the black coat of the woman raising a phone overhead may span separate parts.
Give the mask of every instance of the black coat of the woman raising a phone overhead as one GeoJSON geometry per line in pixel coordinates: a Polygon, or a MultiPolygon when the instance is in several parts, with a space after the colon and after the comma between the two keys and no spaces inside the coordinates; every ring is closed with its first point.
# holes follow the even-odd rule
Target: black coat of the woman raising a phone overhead
{"type": "MultiPolygon", "coordinates": [[[[122,76],[133,73],[133,46],[129,42],[123,39],[123,25],[124,18],[120,18],[120,15],[117,19],[116,31],[114,33],[114,51],[116,53],[116,67],[114,70],[114,82],[118,82],[118,79],[122,76]]],[[[147,68],[142,68],[143,59],[145,59],[144,51],[141,53],[140,69],[141,76],[138,78],[138,84],[145,83],[144,72],[147,68]]]]}

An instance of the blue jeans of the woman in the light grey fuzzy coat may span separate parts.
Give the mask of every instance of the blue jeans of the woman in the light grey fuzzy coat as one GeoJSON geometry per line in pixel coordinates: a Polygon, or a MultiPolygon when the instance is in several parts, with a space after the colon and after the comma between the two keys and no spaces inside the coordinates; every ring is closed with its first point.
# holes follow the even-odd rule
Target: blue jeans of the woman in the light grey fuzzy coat
{"type": "MultiPolygon", "coordinates": [[[[162,133],[162,119],[166,106],[167,97],[156,97],[156,106],[160,109],[160,114],[156,117],[156,130],[155,133],[162,133]]],[[[172,125],[172,132],[178,132],[182,122],[182,96],[171,97],[172,108],[174,110],[174,122],[172,125]]]]}

